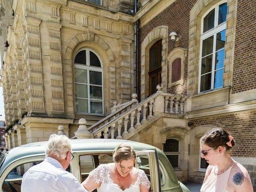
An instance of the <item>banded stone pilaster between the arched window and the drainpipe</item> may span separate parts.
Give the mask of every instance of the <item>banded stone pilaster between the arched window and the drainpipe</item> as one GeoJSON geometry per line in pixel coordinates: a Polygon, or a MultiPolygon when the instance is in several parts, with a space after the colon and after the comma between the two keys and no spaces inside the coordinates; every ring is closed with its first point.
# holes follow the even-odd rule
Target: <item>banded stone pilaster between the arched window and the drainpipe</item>
{"type": "MultiPolygon", "coordinates": [[[[125,26],[122,27],[122,32],[127,33],[128,27],[125,26]]],[[[132,68],[131,63],[131,43],[132,40],[120,38],[119,44],[120,44],[120,51],[119,51],[119,57],[120,57],[120,63],[119,63],[119,71],[120,71],[120,79],[119,79],[119,86],[121,89],[118,89],[118,95],[120,98],[120,103],[125,103],[130,101],[131,97],[131,89],[132,89],[132,82],[133,82],[133,75],[134,71],[132,68]]],[[[117,91],[118,91],[117,90],[117,91]]]]}

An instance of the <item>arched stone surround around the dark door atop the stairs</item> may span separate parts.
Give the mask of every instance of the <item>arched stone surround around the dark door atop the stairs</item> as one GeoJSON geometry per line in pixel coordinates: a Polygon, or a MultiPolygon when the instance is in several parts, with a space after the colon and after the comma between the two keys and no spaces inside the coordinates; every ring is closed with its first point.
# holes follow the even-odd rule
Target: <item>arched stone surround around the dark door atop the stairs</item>
{"type": "Polygon", "coordinates": [[[148,94],[148,71],[149,71],[149,49],[158,40],[162,39],[162,86],[166,92],[166,55],[167,55],[168,26],[154,28],[144,38],[141,44],[141,99],[144,100],[148,94]]]}

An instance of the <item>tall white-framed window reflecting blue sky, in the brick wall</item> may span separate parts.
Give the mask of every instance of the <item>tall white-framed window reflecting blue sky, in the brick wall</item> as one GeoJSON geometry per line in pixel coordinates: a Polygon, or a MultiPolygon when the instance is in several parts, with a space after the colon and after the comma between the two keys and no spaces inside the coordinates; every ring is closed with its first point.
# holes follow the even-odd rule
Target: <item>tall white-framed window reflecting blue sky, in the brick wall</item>
{"type": "Polygon", "coordinates": [[[198,93],[223,87],[227,3],[220,1],[202,17],[198,93]]]}

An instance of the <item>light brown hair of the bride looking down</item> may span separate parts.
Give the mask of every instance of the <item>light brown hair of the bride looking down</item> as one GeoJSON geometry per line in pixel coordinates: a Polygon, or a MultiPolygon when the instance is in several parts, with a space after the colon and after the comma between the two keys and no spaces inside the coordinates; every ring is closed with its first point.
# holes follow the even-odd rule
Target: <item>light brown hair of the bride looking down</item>
{"type": "Polygon", "coordinates": [[[118,145],[113,152],[113,160],[115,163],[121,162],[122,160],[133,159],[134,166],[136,166],[136,153],[132,146],[128,144],[118,145]]]}

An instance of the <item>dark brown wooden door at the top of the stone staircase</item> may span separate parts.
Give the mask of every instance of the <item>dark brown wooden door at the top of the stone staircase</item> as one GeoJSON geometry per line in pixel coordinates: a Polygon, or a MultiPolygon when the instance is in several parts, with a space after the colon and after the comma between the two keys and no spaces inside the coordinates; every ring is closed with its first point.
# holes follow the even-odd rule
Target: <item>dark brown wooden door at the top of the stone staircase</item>
{"type": "Polygon", "coordinates": [[[161,84],[162,40],[157,41],[149,50],[149,96],[154,94],[156,86],[161,84]]]}

